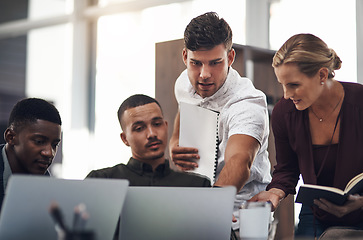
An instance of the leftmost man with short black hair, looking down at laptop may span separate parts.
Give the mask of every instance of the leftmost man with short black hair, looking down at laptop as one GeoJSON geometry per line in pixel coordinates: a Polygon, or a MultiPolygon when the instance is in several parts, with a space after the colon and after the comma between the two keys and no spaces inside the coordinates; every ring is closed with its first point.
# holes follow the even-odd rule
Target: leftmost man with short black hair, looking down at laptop
{"type": "Polygon", "coordinates": [[[4,133],[6,144],[0,145],[0,204],[11,174],[50,175],[61,125],[58,110],[43,99],[27,98],[14,106],[4,133]]]}

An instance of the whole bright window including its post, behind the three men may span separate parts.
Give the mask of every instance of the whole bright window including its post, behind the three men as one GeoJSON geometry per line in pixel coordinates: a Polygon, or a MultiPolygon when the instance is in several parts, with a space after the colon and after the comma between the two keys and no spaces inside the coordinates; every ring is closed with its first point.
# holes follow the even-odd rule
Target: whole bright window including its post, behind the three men
{"type": "MultiPolygon", "coordinates": [[[[19,7],[14,1],[8,2],[8,7],[19,7]]],[[[20,36],[17,32],[20,24],[21,32],[28,39],[22,91],[26,96],[52,101],[62,115],[63,162],[56,176],[64,178],[84,178],[92,169],[128,161],[131,152],[120,140],[116,112],[121,102],[134,93],[154,96],[156,42],[182,38],[185,26],[193,17],[215,11],[231,25],[234,42],[245,44],[245,0],[181,1],[148,8],[141,3],[136,4],[140,10],[120,9],[119,14],[112,10],[112,14],[104,12],[103,6],[107,8],[122,0],[100,0],[98,5],[86,7],[82,12],[82,3],[89,2],[96,1],[23,0],[23,12],[27,14],[3,19],[3,22],[23,20],[13,25],[15,35],[20,36]],[[77,14],[73,13],[73,4],[77,14]],[[97,29],[83,32],[82,27],[93,23],[97,29]],[[74,32],[80,25],[81,31],[74,32]],[[92,35],[95,30],[97,34],[92,35]],[[83,49],[92,36],[97,39],[97,45],[83,49]],[[94,96],[90,90],[93,87],[94,96]],[[85,123],[88,119],[94,121],[94,129],[85,123]]],[[[158,1],[150,0],[147,4],[155,2],[158,1]]],[[[2,27],[0,38],[11,42],[13,36],[6,34],[6,28],[2,27]]]]}

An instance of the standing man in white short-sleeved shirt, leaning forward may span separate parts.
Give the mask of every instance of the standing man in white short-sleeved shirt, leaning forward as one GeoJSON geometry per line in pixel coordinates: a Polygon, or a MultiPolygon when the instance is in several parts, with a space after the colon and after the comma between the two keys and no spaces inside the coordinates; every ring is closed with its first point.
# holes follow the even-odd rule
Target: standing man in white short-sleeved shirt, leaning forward
{"type": "MultiPolygon", "coordinates": [[[[184,32],[184,45],[187,69],[176,80],[175,97],[178,103],[219,112],[214,186],[235,186],[238,207],[264,190],[271,180],[266,96],[231,67],[236,54],[232,30],[216,13],[192,19],[184,32]]],[[[179,126],[178,112],[169,144],[171,158],[181,170],[197,168],[198,149],[179,146],[179,126]]]]}

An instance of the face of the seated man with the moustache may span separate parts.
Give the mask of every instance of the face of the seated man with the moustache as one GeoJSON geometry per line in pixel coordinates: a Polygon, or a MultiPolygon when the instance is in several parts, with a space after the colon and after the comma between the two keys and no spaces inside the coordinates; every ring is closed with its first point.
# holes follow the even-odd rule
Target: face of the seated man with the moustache
{"type": "Polygon", "coordinates": [[[164,163],[168,125],[159,105],[153,102],[127,109],[122,121],[121,139],[131,147],[132,157],[152,166],[164,163]]]}

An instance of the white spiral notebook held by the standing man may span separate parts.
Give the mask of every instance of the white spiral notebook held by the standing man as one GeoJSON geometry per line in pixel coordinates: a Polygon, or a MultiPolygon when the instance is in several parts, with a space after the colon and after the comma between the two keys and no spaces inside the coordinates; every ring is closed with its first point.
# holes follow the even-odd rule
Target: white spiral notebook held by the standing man
{"type": "Polygon", "coordinates": [[[207,176],[215,182],[218,164],[218,117],[210,109],[180,103],[179,146],[198,149],[198,168],[191,172],[207,176]]]}

